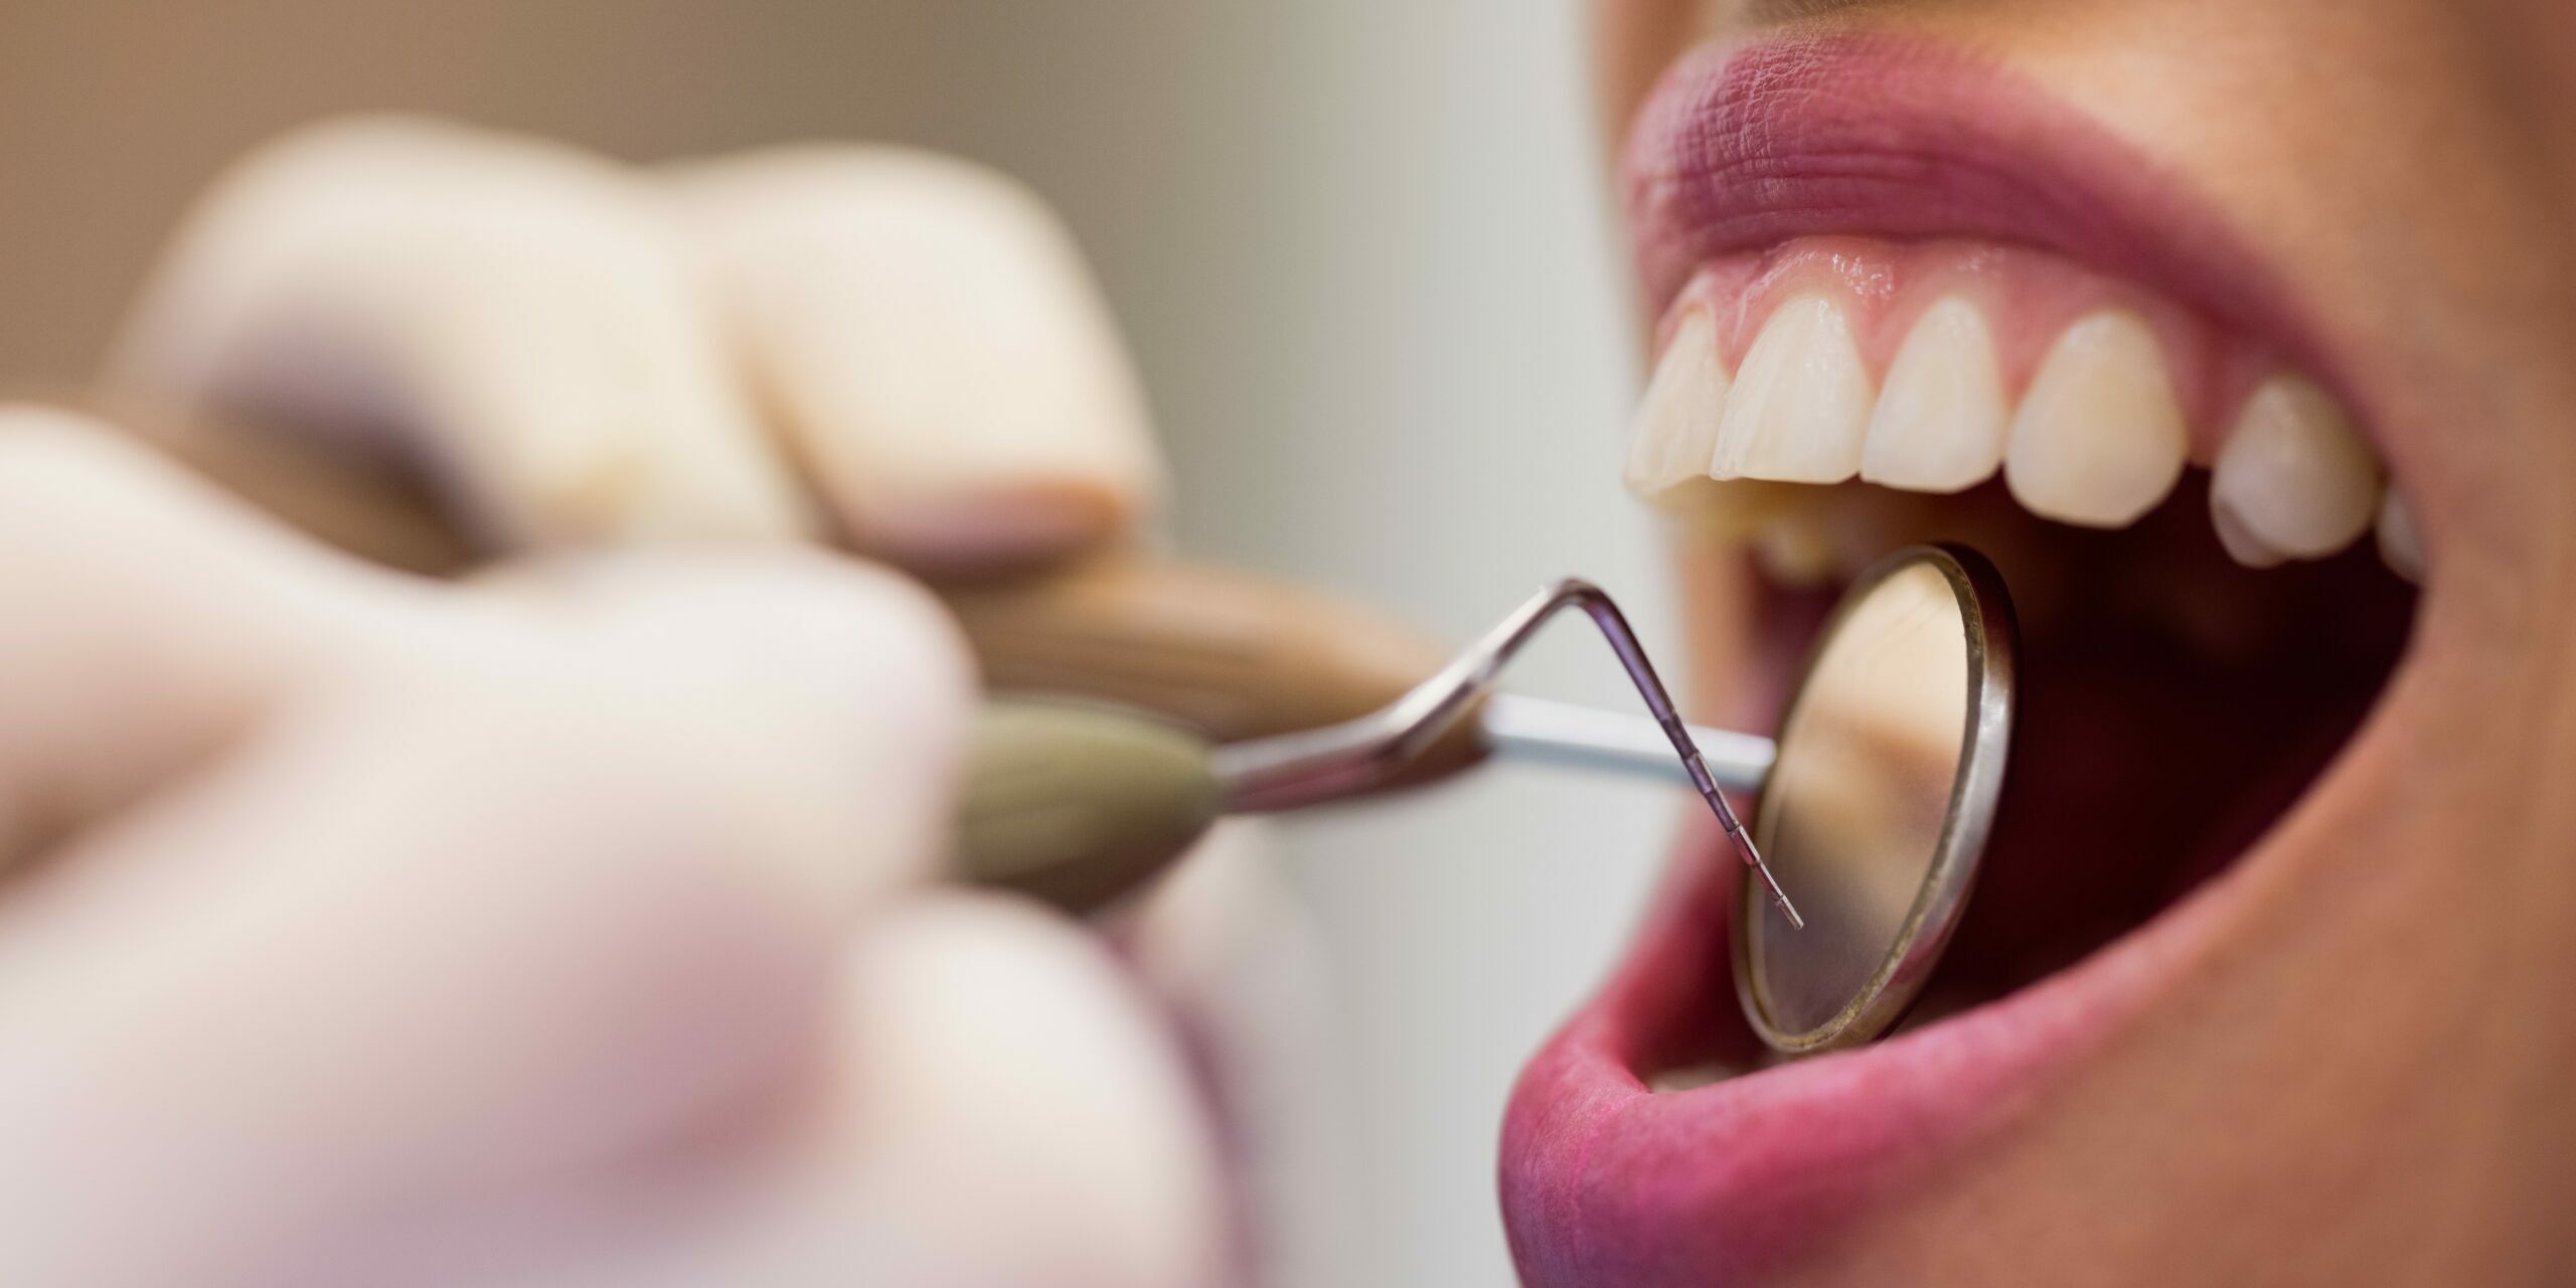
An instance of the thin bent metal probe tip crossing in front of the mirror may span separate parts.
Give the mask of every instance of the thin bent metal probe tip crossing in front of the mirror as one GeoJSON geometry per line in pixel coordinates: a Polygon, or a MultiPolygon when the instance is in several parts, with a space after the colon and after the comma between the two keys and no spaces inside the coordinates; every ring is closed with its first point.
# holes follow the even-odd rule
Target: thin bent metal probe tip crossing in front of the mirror
{"type": "Polygon", "coordinates": [[[1734,840],[1744,863],[1762,876],[1762,886],[1770,891],[1772,904],[1780,907],[1780,914],[1788,917],[1788,925],[1806,930],[1798,907],[1788,902],[1788,891],[1780,889],[1770,866],[1762,863],[1762,850],[1754,850],[1754,840],[1736,822],[1736,811],[1726,806],[1726,793],[1710,778],[1708,762],[1690,737],[1690,726],[1682,724],[1672,696],[1664,693],[1664,680],[1654,675],[1654,662],[1646,659],[1636,631],[1628,629],[1625,613],[1610,603],[1602,587],[1577,577],[1566,577],[1533,595],[1448,667],[1440,667],[1440,675],[1422,680],[1383,711],[1327,729],[1218,747],[1216,773],[1226,783],[1231,809],[1296,809],[1383,786],[1473,711],[1476,698],[1484,698],[1494,688],[1504,662],[1564,608],[1582,608],[1592,618],[1592,626],[1602,631],[1610,652],[1618,654],[1620,667],[1636,685],[1638,698],[1646,701],[1654,724],[1664,729],[1674,755],[1682,757],[1690,786],[1718,814],[1718,824],[1726,827],[1726,837],[1734,840]]]}

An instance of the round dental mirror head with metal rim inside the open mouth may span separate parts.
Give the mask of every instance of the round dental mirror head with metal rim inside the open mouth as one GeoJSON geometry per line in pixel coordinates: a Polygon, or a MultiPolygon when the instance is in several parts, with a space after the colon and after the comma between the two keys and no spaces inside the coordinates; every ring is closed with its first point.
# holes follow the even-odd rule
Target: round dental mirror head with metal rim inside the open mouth
{"type": "Polygon", "coordinates": [[[1891,554],[1826,621],[1754,819],[1806,930],[1736,891],[1736,997],[1770,1046],[1860,1046],[1914,1005],[1994,824],[2012,644],[2002,577],[1958,546],[1891,554]]]}

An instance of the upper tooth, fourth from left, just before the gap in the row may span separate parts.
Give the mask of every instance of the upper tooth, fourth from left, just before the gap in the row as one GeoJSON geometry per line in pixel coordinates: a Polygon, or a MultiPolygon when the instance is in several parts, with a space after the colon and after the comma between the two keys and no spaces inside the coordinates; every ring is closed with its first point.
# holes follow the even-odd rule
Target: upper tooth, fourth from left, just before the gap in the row
{"type": "Polygon", "coordinates": [[[2035,515],[2125,528],[2174,489],[2187,448],[2156,332],[2136,314],[2099,312],[2040,358],[2012,417],[2004,482],[2035,515]]]}

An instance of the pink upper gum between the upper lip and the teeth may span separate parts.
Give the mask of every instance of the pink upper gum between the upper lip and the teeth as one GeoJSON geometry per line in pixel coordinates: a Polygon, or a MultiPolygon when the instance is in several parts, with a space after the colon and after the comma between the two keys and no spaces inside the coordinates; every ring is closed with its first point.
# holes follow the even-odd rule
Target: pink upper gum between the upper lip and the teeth
{"type": "Polygon", "coordinates": [[[2192,464],[2208,466],[2254,386],[2280,358],[2249,337],[2123,278],[2094,273],[2045,250],[1994,242],[1888,242],[1875,237],[1798,237],[1770,250],[1700,265],[1672,301],[1656,335],[1669,343],[1685,312],[1705,309],[1718,358],[1734,371],[1770,314],[1798,296],[1829,296],[1852,322],[1870,381],[1883,381],[1914,319],[1945,296],[1965,296],[1994,330],[2004,394],[2022,399],[2048,345],[2079,317],[2125,309],[2164,345],[2164,371],[2192,433],[2192,464]]]}

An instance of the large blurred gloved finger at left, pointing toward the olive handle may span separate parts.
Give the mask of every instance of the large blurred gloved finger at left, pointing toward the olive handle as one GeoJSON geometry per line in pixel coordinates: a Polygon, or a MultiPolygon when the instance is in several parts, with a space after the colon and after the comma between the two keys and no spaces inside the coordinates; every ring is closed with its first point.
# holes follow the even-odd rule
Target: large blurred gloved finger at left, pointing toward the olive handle
{"type": "Polygon", "coordinates": [[[0,902],[0,1283],[273,1283],[659,1149],[804,1051],[935,853],[971,683],[891,574],[703,556],[440,623],[0,902]]]}

